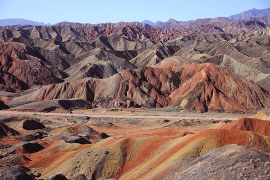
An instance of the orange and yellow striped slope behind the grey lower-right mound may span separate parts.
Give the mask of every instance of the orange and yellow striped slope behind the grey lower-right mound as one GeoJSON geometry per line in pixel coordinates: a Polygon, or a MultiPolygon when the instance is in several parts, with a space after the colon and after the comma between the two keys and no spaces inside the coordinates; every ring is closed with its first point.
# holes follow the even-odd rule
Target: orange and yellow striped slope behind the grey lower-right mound
{"type": "MultiPolygon", "coordinates": [[[[100,141],[91,147],[88,144],[81,145],[80,150],[65,153],[46,166],[43,176],[47,177],[57,172],[70,178],[79,172],[87,178],[95,179],[154,179],[213,148],[226,144],[248,145],[270,152],[267,136],[229,129],[209,129],[170,140],[158,136],[105,140],[106,146],[100,141]]],[[[42,151],[45,152],[45,149],[42,151]]],[[[41,154],[42,151],[37,153],[41,154]]],[[[45,159],[42,160],[43,164],[47,164],[45,159]]],[[[38,161],[40,159],[31,163],[40,164],[38,161]]]]}

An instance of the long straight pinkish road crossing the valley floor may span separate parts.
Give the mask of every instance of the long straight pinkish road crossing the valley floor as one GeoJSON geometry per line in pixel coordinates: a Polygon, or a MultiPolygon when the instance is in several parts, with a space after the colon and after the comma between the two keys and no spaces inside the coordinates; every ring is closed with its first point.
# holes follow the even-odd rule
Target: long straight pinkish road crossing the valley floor
{"type": "Polygon", "coordinates": [[[238,118],[228,117],[188,117],[188,116],[148,116],[148,115],[96,115],[96,114],[80,114],[80,113],[53,113],[53,112],[17,112],[17,111],[0,111],[0,114],[27,114],[32,115],[64,115],[64,116],[89,116],[89,117],[112,117],[112,118],[169,118],[169,119],[200,119],[200,120],[238,120],[238,118]]]}

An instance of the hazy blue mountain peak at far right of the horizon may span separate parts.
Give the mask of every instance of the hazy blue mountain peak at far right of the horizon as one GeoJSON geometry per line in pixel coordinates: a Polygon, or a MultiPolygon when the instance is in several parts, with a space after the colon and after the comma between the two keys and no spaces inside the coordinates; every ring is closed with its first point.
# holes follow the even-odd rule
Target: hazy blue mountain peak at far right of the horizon
{"type": "Polygon", "coordinates": [[[263,15],[269,15],[269,14],[270,14],[270,7],[265,8],[265,9],[252,8],[252,9],[243,11],[243,12],[238,13],[238,14],[230,15],[227,18],[235,19],[235,20],[243,20],[243,19],[246,19],[248,17],[260,17],[263,15]]]}

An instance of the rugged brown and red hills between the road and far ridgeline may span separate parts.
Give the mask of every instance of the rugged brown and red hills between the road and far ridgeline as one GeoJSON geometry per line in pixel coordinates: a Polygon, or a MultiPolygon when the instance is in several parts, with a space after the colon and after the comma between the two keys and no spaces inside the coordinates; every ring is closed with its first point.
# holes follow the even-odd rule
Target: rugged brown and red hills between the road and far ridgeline
{"type": "Polygon", "coordinates": [[[248,113],[270,105],[269,27],[235,35],[179,35],[167,42],[154,31],[136,39],[134,28],[151,28],[123,26],[122,34],[97,36],[98,28],[87,28],[0,29],[1,99],[81,98],[93,107],[197,112],[248,113]],[[133,32],[129,38],[124,29],[133,32]]]}

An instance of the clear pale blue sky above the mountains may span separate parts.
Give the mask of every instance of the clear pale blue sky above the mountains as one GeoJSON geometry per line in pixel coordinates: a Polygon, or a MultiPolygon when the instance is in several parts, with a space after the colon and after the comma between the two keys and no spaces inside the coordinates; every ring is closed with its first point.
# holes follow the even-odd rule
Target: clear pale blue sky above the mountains
{"type": "Polygon", "coordinates": [[[0,19],[24,18],[54,24],[195,20],[270,7],[270,0],[0,0],[0,19]]]}

